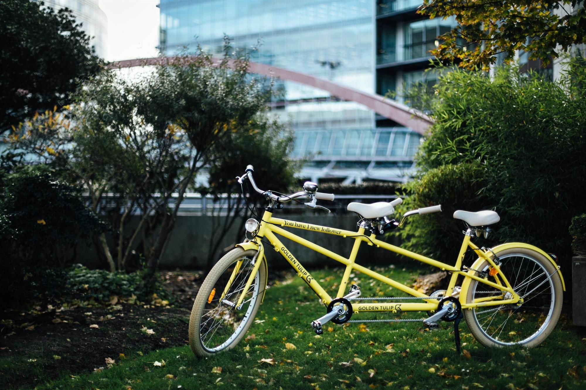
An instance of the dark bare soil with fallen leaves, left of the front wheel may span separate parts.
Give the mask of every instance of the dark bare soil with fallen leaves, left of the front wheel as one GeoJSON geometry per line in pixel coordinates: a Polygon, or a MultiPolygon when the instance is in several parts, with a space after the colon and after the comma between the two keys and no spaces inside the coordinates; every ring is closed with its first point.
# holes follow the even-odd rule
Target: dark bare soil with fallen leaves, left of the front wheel
{"type": "Polygon", "coordinates": [[[0,359],[12,358],[12,367],[0,367],[1,376],[9,376],[14,388],[34,388],[42,377],[62,371],[79,374],[105,367],[106,358],[118,361],[127,354],[189,343],[189,314],[202,273],[161,272],[160,277],[172,306],[153,299],[0,313],[0,359]],[[30,375],[27,366],[32,364],[40,375],[30,375]]]}

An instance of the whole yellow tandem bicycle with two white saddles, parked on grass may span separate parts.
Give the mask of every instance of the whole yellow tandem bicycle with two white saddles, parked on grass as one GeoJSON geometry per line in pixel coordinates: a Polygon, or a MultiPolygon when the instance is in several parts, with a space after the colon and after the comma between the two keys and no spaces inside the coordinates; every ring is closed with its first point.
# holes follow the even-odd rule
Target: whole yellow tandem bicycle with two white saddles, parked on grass
{"type": "Polygon", "coordinates": [[[352,321],[350,317],[353,313],[425,312],[425,319],[412,321],[423,320],[427,327],[437,327],[439,321],[454,321],[456,348],[459,351],[458,323],[462,317],[473,336],[488,347],[515,344],[533,347],[541,343],[556,326],[565,284],[553,255],[521,242],[510,242],[493,248],[479,248],[472,243],[472,237],[486,237],[490,232],[489,225],[499,221],[495,211],[455,211],[454,218],[464,221],[466,230],[463,231],[464,240],[455,265],[449,265],[377,238],[386,231],[401,227],[410,215],[436,213],[441,211],[441,206],[408,211],[397,222],[390,215],[394,213],[394,207],[401,203],[400,198],[389,203],[353,202],[348,204],[347,210],[360,217],[357,231],[289,221],[273,217],[273,212],[281,208],[282,203],[304,197],[308,199],[306,206],[328,210],[318,206],[316,201],[333,200],[334,195],[318,192],[317,184],[311,182],[304,184],[303,191],[291,195],[263,191],[255,184],[253,172],[253,166],[249,165],[244,175],[237,179],[240,184],[248,180],[255,191],[263,194],[268,206],[260,221],[251,218],[246,222],[245,227],[251,239],[237,244],[236,248],[224,255],[200,286],[189,321],[189,343],[195,355],[206,357],[233,348],[253,323],[267,289],[267,259],[263,238],[285,258],[299,278],[314,290],[326,306],[326,313],[311,323],[318,334],[322,333],[322,327],[328,321],[336,324],[352,321]],[[284,228],[338,235],[355,241],[346,258],[284,228]],[[335,297],[328,295],[277,235],[345,265],[335,297]],[[450,272],[448,288],[425,295],[357,264],[356,255],[363,242],[450,272]],[[462,265],[462,260],[466,251],[470,250],[478,255],[478,259],[472,266],[466,267],[462,265]],[[348,283],[353,271],[359,271],[411,296],[362,297],[359,286],[348,283]],[[460,275],[464,277],[463,281],[456,286],[460,275]]]}

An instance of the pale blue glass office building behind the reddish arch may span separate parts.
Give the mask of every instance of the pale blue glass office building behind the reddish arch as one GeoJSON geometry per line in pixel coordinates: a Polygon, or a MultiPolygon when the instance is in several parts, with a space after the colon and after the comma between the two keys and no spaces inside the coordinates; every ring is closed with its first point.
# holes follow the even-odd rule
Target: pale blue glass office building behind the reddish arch
{"type": "MultiPolygon", "coordinates": [[[[199,43],[222,54],[257,47],[251,61],[310,74],[367,93],[376,91],[374,0],[161,0],[161,50],[171,56],[199,43]]],[[[314,156],[302,172],[312,180],[404,180],[421,136],[377,129],[373,111],[327,91],[278,81],[284,96],[271,112],[295,129],[294,154],[314,156]]]]}

